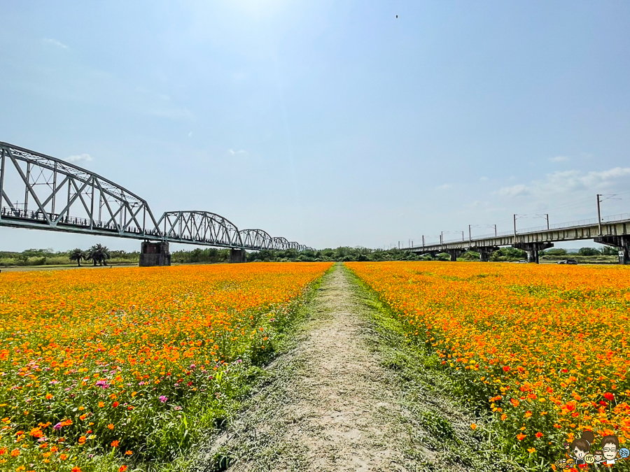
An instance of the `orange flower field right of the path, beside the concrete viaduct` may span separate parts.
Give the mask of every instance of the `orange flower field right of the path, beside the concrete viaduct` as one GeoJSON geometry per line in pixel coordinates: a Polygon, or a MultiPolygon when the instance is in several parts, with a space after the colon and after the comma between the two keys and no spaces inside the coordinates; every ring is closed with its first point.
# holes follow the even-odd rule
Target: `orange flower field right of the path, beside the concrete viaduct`
{"type": "Polygon", "coordinates": [[[487,430],[502,438],[497,448],[521,464],[549,464],[582,429],[630,441],[626,267],[346,266],[490,415],[487,430]]]}

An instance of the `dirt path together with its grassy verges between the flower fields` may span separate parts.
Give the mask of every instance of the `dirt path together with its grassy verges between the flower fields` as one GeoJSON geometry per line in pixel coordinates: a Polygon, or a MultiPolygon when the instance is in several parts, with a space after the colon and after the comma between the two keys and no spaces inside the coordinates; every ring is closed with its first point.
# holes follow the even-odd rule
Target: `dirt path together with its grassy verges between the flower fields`
{"type": "Polygon", "coordinates": [[[231,472],[477,469],[458,454],[466,448],[456,430],[470,431],[469,419],[421,380],[386,368],[401,355],[389,352],[398,360],[387,360],[374,347],[381,343],[370,322],[376,308],[365,292],[343,266],[325,276],[295,347],[269,366],[268,382],[196,470],[225,470],[209,467],[218,453],[232,458],[231,472]]]}

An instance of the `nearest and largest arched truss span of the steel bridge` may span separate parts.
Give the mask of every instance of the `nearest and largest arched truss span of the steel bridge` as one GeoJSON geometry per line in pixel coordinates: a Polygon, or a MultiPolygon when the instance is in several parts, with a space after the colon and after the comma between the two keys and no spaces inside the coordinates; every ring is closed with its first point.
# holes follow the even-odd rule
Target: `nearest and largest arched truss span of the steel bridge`
{"type": "Polygon", "coordinates": [[[8,143],[0,143],[0,220],[15,227],[159,236],[148,203],[125,187],[8,143]]]}

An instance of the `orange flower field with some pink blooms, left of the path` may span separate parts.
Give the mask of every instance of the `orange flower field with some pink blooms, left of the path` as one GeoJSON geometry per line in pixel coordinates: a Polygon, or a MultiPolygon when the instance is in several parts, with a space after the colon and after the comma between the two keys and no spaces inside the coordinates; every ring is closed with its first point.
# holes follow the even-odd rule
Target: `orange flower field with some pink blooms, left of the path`
{"type": "Polygon", "coordinates": [[[0,469],[131,472],[180,455],[330,265],[2,273],[0,469]]]}

